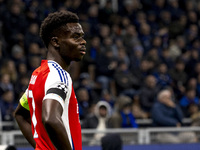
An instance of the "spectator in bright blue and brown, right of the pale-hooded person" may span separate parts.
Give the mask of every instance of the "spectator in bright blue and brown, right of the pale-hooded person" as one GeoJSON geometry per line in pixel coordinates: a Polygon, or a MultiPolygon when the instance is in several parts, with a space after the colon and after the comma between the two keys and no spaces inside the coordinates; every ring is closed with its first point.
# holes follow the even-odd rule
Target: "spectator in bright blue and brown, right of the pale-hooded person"
{"type": "Polygon", "coordinates": [[[115,112],[111,116],[111,127],[113,128],[137,128],[138,125],[132,114],[131,98],[119,96],[115,103],[115,112]]]}

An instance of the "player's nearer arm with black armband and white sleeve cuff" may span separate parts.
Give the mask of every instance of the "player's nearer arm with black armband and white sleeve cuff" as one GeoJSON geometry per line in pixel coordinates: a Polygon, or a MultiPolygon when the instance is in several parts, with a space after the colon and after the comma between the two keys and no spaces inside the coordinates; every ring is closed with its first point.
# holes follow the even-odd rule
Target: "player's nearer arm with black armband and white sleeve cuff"
{"type": "Polygon", "coordinates": [[[58,150],[72,150],[66,129],[61,119],[66,93],[61,89],[48,90],[42,103],[42,122],[44,127],[58,150]]]}

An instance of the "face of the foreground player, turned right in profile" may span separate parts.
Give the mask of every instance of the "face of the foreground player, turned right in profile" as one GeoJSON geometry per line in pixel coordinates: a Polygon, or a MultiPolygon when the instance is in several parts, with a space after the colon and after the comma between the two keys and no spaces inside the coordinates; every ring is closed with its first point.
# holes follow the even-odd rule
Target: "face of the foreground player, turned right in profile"
{"type": "Polygon", "coordinates": [[[67,34],[60,39],[60,55],[67,61],[80,61],[86,54],[84,32],[79,23],[67,23],[67,34]]]}

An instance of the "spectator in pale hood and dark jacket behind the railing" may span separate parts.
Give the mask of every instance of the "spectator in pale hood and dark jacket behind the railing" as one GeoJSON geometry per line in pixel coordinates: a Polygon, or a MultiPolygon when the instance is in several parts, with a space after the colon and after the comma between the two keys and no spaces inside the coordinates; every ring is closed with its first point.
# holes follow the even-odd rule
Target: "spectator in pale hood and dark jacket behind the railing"
{"type": "MultiPolygon", "coordinates": [[[[82,128],[96,129],[97,131],[105,131],[107,128],[110,128],[109,119],[111,116],[111,107],[105,101],[99,101],[95,108],[94,112],[91,115],[87,115],[87,118],[83,120],[82,128]]],[[[96,133],[90,145],[94,145],[100,142],[101,138],[105,133],[96,133]]]]}

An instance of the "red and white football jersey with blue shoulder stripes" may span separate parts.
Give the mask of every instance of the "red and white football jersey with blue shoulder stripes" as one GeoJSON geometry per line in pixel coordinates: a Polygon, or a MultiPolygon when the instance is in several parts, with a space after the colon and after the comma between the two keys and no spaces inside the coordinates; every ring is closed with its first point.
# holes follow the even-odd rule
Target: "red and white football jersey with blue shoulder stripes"
{"type": "Polygon", "coordinates": [[[62,121],[66,129],[63,132],[67,132],[73,150],[82,150],[78,103],[68,72],[55,61],[42,60],[41,66],[31,76],[26,96],[36,150],[56,149],[42,123],[42,102],[47,99],[54,99],[61,104],[62,121]]]}

